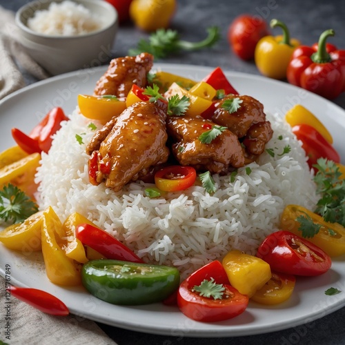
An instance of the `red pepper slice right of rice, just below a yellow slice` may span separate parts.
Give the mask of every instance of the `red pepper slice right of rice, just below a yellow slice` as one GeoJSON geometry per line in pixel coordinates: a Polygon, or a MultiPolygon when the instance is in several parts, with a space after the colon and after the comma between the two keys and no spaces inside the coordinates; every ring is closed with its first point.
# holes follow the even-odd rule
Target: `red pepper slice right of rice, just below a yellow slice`
{"type": "Polygon", "coordinates": [[[301,124],[293,126],[293,133],[302,141],[302,148],[306,151],[309,168],[317,164],[317,159],[326,158],[335,163],[340,163],[339,153],[314,127],[301,124]]]}

